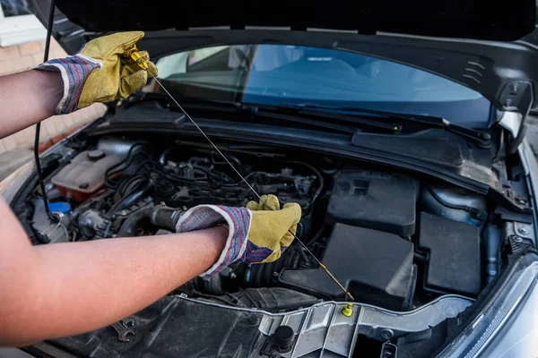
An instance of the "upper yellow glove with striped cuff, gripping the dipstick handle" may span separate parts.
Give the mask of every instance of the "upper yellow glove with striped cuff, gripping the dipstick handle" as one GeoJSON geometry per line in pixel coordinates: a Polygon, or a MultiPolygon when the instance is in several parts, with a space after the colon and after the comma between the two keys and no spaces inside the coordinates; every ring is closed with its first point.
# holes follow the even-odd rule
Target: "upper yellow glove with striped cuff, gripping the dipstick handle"
{"type": "MultiPolygon", "coordinates": [[[[71,113],[95,102],[126,98],[142,89],[148,79],[147,72],[122,56],[140,38],[143,31],[117,32],[92,39],[75,55],[39,64],[38,70],[62,74],[64,97],[56,106],[56,114],[71,113]]],[[[140,55],[156,76],[157,68],[149,62],[148,53],[140,51],[140,55]]]]}

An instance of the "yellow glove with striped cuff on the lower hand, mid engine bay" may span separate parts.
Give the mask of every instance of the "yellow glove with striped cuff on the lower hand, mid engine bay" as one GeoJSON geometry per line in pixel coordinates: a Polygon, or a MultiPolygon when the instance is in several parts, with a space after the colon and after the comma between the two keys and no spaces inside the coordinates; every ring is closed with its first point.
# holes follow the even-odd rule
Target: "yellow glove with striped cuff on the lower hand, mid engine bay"
{"type": "Polygon", "coordinates": [[[178,221],[178,233],[201,230],[224,221],[229,228],[226,246],[217,262],[201,277],[212,276],[230,264],[272,262],[290,246],[300,220],[297,203],[280,209],[278,198],[264,195],[259,203],[250,201],[247,208],[199,205],[187,210],[178,221]],[[262,201],[263,200],[263,201],[262,201]],[[267,208],[265,203],[273,210],[267,208]]]}

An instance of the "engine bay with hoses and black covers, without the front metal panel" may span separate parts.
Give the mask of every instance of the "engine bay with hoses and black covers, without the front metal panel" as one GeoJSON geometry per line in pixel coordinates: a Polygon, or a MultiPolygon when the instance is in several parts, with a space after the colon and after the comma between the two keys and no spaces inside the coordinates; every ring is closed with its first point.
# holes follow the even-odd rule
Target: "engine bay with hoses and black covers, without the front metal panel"
{"type": "MultiPolygon", "coordinates": [[[[480,227],[488,215],[480,195],[312,153],[224,153],[256,192],[277,195],[282,205],[299,203],[298,238],[358,302],[409,311],[442,294],[480,293],[480,227]],[[439,221],[444,229],[436,229],[439,221]]],[[[39,195],[29,202],[29,234],[37,244],[169,234],[195,205],[256,200],[217,152],[192,142],[101,138],[69,149],[64,159],[47,184],[59,220],[48,220],[39,195]]],[[[226,268],[172,294],[256,308],[265,300],[244,298],[270,287],[293,297],[286,307],[345,300],[299,243],[280,260],[226,268]]]]}

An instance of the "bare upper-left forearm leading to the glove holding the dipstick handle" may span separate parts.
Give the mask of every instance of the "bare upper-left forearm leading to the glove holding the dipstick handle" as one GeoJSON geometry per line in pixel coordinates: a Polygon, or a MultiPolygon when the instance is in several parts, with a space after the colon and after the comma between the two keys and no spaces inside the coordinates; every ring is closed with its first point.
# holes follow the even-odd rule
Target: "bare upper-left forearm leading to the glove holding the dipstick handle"
{"type": "Polygon", "coordinates": [[[0,77],[0,138],[55,115],[63,90],[59,72],[30,70],[0,77]]]}

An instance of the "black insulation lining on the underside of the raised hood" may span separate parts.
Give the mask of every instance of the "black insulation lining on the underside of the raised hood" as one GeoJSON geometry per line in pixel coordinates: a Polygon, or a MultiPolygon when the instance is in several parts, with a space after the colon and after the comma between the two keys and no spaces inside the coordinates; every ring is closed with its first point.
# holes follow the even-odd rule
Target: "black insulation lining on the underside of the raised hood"
{"type": "Polygon", "coordinates": [[[311,3],[229,0],[165,2],[57,0],[67,17],[90,31],[188,30],[248,26],[377,31],[447,38],[516,40],[534,30],[534,0],[507,4],[489,1],[423,2],[345,1],[311,3]]]}

